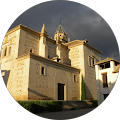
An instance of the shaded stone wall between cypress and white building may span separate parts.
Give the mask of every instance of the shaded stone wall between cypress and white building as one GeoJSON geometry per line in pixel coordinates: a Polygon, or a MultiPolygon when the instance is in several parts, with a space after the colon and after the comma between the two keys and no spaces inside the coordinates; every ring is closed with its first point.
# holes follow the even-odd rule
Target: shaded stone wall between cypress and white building
{"type": "Polygon", "coordinates": [[[84,61],[85,61],[85,91],[87,99],[97,99],[97,87],[95,77],[95,67],[89,66],[89,56],[94,56],[98,61],[101,60],[101,55],[92,49],[84,46],[84,61]]]}

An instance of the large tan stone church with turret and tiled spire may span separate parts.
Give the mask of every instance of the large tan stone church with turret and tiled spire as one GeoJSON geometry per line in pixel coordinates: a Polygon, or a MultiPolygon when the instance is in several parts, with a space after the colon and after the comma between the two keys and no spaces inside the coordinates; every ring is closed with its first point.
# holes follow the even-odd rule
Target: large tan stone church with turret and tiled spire
{"type": "Polygon", "coordinates": [[[9,30],[1,46],[1,72],[15,100],[97,99],[94,63],[102,52],[85,40],[70,41],[58,26],[54,39],[24,25],[9,30]]]}

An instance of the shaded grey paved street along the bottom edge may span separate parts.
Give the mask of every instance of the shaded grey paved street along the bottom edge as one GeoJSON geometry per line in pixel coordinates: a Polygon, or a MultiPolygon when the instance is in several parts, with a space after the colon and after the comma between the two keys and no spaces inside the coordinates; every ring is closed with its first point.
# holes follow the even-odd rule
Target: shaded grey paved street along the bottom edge
{"type": "Polygon", "coordinates": [[[70,111],[39,113],[36,115],[48,119],[65,120],[65,119],[74,119],[83,116],[94,109],[95,108],[88,108],[88,109],[79,109],[79,110],[70,110],[70,111]]]}

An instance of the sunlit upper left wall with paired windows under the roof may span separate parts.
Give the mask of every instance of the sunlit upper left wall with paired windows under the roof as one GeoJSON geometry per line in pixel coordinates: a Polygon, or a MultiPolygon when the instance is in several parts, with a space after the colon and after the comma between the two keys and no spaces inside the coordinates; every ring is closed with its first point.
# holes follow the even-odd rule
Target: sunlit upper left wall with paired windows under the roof
{"type": "MultiPolygon", "coordinates": [[[[13,59],[17,58],[18,45],[19,45],[19,34],[20,34],[20,30],[17,30],[9,35],[5,35],[5,38],[4,38],[2,46],[1,46],[1,62],[2,62],[2,64],[11,62],[13,59]],[[4,56],[6,47],[7,47],[7,53],[6,53],[6,56],[4,56]],[[11,47],[11,51],[9,51],[10,47],[11,47]]],[[[7,68],[2,68],[2,69],[7,69],[7,68]]]]}

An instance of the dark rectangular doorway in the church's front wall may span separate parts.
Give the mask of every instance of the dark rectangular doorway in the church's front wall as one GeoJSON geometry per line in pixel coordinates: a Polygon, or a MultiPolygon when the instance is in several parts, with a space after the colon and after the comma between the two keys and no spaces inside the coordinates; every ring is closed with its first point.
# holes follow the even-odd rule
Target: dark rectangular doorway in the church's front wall
{"type": "Polygon", "coordinates": [[[65,84],[58,83],[58,100],[64,100],[64,86],[65,84]]]}

